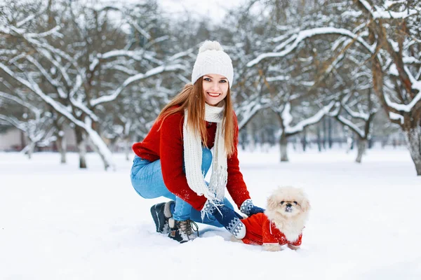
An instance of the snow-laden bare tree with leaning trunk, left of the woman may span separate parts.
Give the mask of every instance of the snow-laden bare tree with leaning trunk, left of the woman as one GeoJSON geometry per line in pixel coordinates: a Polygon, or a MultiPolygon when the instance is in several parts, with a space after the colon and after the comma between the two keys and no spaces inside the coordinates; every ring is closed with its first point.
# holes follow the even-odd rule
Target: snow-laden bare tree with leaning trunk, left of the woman
{"type": "Polygon", "coordinates": [[[133,83],[166,71],[183,69],[179,62],[184,54],[159,57],[153,51],[156,44],[166,38],[151,35],[156,28],[151,24],[156,23],[156,14],[149,3],[100,8],[84,6],[83,3],[61,3],[64,6],[57,6],[57,10],[38,3],[36,10],[59,15],[44,18],[45,21],[36,18],[36,14],[6,10],[1,31],[10,38],[9,44],[19,41],[20,45],[18,52],[9,55],[8,65],[0,62],[0,69],[75,125],[81,168],[86,167],[84,146],[86,137],[89,137],[107,169],[114,164],[98,133],[98,110],[103,104],[113,102],[133,83]],[[110,10],[119,13],[121,24],[126,23],[126,28],[130,27],[133,34],[139,34],[142,46],[128,41],[123,27],[109,24],[110,10]],[[15,15],[25,15],[25,18],[9,20],[15,15]],[[138,15],[143,15],[143,22],[135,20],[138,15]],[[52,27],[51,18],[60,18],[62,22],[54,22],[52,27]],[[36,28],[34,20],[41,21],[36,22],[36,28]],[[63,29],[62,25],[67,26],[63,29]],[[41,81],[45,82],[42,86],[41,81]]]}

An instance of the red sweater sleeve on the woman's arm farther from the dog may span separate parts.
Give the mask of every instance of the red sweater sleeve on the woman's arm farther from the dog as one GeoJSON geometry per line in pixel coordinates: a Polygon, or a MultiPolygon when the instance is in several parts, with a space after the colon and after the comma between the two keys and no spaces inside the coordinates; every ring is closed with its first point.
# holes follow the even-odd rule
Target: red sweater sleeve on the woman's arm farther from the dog
{"type": "Polygon", "coordinates": [[[187,184],[183,171],[182,124],[183,118],[173,114],[163,120],[161,125],[159,150],[163,183],[171,193],[200,211],[206,203],[206,197],[194,193],[187,184]]]}

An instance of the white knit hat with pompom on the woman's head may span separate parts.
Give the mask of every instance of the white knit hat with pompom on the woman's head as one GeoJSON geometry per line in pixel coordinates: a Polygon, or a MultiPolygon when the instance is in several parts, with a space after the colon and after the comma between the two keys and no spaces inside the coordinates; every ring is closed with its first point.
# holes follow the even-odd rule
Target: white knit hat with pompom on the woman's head
{"type": "Polygon", "coordinates": [[[199,54],[194,62],[192,84],[206,74],[219,74],[228,79],[231,88],[234,79],[232,61],[217,41],[205,41],[199,48],[199,54]]]}

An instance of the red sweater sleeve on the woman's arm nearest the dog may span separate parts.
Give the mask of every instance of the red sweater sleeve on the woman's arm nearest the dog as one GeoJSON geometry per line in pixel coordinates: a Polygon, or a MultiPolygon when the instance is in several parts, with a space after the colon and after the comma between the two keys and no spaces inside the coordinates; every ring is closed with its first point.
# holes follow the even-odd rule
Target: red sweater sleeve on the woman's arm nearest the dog
{"type": "Polygon", "coordinates": [[[237,123],[237,118],[234,113],[234,153],[227,160],[227,190],[229,195],[231,195],[232,200],[234,200],[237,207],[241,207],[244,200],[250,199],[250,194],[248,193],[246,183],[243,179],[243,174],[240,172],[240,162],[238,158],[238,144],[239,144],[239,125],[237,123]]]}

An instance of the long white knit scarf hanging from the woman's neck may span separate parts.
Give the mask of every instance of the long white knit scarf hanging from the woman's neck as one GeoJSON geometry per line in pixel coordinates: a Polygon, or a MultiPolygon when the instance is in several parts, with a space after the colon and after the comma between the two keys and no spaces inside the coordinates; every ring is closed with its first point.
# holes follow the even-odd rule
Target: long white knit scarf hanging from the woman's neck
{"type": "Polygon", "coordinates": [[[183,146],[187,183],[198,195],[204,195],[213,204],[222,202],[227,186],[227,151],[225,149],[224,132],[222,131],[222,117],[225,102],[218,106],[205,104],[205,120],[210,123],[218,123],[213,146],[212,174],[209,186],[206,185],[204,174],[201,172],[202,141],[199,132],[194,132],[187,125],[187,109],[183,125],[183,146]]]}

